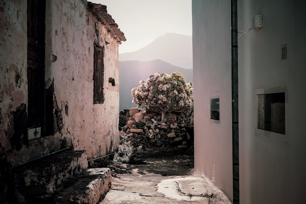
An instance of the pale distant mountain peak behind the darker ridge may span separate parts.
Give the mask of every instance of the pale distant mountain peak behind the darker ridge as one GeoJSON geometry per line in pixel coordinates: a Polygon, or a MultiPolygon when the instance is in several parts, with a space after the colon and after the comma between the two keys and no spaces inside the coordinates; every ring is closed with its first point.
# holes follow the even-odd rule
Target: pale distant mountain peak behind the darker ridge
{"type": "Polygon", "coordinates": [[[192,36],[166,33],[140,50],[119,54],[119,61],[155,59],[181,68],[192,69],[192,36]]]}

